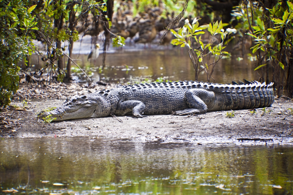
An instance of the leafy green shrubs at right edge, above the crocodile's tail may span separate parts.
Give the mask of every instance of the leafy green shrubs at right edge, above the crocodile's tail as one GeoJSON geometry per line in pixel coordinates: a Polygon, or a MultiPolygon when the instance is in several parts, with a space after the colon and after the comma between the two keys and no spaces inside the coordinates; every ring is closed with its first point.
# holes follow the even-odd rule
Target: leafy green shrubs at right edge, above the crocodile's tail
{"type": "Polygon", "coordinates": [[[269,82],[273,78],[277,95],[282,95],[283,86],[287,86],[290,96],[293,95],[292,75],[293,58],[293,4],[290,1],[275,0],[271,7],[264,8],[258,2],[243,1],[234,10],[234,19],[239,20],[240,32],[248,32],[254,44],[251,47],[256,55],[258,70],[261,75],[260,81],[269,82]],[[270,76],[269,66],[273,72],[270,76]],[[287,75],[286,75],[287,74],[287,75]]]}

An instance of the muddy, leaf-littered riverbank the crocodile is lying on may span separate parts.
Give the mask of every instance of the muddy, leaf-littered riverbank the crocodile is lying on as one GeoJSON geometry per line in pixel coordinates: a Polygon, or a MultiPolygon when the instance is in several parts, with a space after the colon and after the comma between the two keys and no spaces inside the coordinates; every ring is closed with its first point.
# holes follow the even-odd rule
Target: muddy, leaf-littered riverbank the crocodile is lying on
{"type": "Polygon", "coordinates": [[[88,136],[197,144],[293,144],[293,101],[283,98],[276,98],[269,108],[236,110],[231,118],[226,116],[227,111],[194,116],[151,115],[139,119],[117,116],[52,123],[36,118],[37,112],[58,107],[67,97],[113,87],[113,84],[21,84],[11,106],[0,113],[0,136],[88,136]]]}

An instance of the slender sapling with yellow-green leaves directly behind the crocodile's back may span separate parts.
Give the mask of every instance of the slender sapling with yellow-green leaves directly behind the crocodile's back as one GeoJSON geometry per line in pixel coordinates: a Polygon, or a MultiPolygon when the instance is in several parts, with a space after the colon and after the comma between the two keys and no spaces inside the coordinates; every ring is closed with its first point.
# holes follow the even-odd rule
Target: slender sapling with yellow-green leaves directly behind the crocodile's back
{"type": "Polygon", "coordinates": [[[171,43],[188,48],[189,57],[195,69],[195,80],[198,79],[200,72],[205,71],[207,80],[210,81],[214,67],[219,59],[224,55],[229,55],[228,52],[223,51],[226,47],[224,44],[227,44],[229,40],[226,43],[223,40],[226,39],[227,35],[234,33],[236,30],[227,28],[224,31],[223,27],[226,24],[222,24],[222,21],[199,26],[198,20],[195,18],[192,24],[190,24],[189,20],[186,19],[185,25],[179,28],[178,32],[172,29],[171,32],[175,35],[176,39],[173,39],[171,43]],[[211,35],[208,43],[202,41],[202,34],[206,33],[211,35]],[[214,56],[213,62],[208,63],[211,56],[214,56]],[[204,58],[207,59],[204,60],[204,58]]]}

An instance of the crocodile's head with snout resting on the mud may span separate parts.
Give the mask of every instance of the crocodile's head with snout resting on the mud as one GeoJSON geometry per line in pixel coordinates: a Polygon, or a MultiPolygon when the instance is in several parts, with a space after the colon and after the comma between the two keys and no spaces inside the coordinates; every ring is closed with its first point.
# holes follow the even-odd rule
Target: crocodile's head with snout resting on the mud
{"type": "Polygon", "coordinates": [[[55,118],[52,121],[71,120],[89,117],[103,117],[110,113],[110,105],[104,96],[96,93],[73,96],[59,108],[52,111],[38,113],[38,118],[44,120],[48,115],[55,118]]]}

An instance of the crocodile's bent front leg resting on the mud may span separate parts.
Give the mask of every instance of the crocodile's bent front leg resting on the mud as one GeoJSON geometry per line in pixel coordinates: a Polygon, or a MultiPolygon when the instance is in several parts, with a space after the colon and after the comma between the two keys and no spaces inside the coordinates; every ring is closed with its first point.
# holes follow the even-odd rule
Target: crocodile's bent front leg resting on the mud
{"type": "Polygon", "coordinates": [[[144,113],[145,107],[146,106],[141,101],[127,100],[127,101],[118,103],[115,114],[126,115],[127,113],[132,112],[133,117],[143,118],[143,117],[146,117],[142,115],[144,113]]]}

